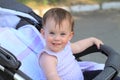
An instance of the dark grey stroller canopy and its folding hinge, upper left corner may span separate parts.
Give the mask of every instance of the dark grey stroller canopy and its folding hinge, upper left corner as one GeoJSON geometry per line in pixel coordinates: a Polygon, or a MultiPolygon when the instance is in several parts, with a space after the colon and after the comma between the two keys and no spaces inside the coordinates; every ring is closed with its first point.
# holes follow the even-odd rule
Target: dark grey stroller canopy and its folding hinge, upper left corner
{"type": "Polygon", "coordinates": [[[16,26],[16,29],[26,24],[34,25],[38,29],[38,31],[40,31],[40,29],[42,28],[42,18],[39,15],[37,15],[30,7],[20,2],[17,2],[16,0],[0,0],[0,7],[6,10],[13,10],[13,11],[28,14],[37,21],[36,22],[33,19],[28,18],[27,16],[16,14],[22,20],[18,23],[18,25],[16,26]]]}

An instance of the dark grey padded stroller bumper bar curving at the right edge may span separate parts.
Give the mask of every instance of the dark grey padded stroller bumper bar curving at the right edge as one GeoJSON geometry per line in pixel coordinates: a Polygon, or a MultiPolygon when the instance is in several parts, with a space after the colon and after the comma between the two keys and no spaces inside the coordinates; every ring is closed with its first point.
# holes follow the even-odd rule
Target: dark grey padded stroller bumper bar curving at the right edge
{"type": "Polygon", "coordinates": [[[93,80],[111,80],[120,70],[120,54],[107,45],[101,45],[100,51],[108,58],[105,62],[104,70],[93,80]]]}

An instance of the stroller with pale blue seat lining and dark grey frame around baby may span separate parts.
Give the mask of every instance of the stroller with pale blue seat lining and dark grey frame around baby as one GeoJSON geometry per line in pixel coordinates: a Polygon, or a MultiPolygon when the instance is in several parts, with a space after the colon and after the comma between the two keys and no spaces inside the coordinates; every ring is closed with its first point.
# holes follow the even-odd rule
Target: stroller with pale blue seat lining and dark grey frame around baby
{"type": "MultiPolygon", "coordinates": [[[[0,34],[0,80],[32,80],[33,77],[38,76],[36,72],[40,73],[39,72],[40,70],[38,69],[38,67],[36,67],[38,66],[37,60],[36,60],[37,59],[36,53],[38,53],[41,50],[39,49],[39,47],[41,46],[35,46],[35,44],[41,45],[42,41],[39,43],[35,43],[32,46],[30,45],[30,43],[33,42],[34,39],[37,39],[37,41],[40,41],[38,38],[40,35],[39,36],[36,36],[36,35],[39,34],[39,30],[42,28],[42,24],[41,24],[42,18],[37,14],[35,14],[31,8],[25,6],[24,4],[16,2],[15,0],[9,0],[9,1],[0,0],[0,8],[1,8],[0,12],[3,12],[4,14],[9,13],[9,16],[12,16],[12,17],[17,16],[20,18],[19,21],[16,21],[15,27],[9,25],[12,27],[12,28],[9,28],[9,30],[8,28],[7,29],[0,28],[0,31],[2,31],[2,33],[0,34]],[[11,4],[14,4],[14,5],[11,5],[11,4]],[[15,13],[14,11],[17,11],[17,13],[15,13]],[[26,28],[28,27],[27,25],[32,25],[32,27],[29,26],[29,29],[27,29],[26,28]],[[27,33],[25,32],[25,30],[31,31],[32,33],[35,31],[35,34],[32,34],[32,36],[29,36],[30,32],[27,33]],[[25,33],[24,35],[28,35],[28,36],[24,37],[23,33],[25,33]],[[11,36],[9,38],[6,38],[6,37],[3,38],[5,34],[7,35],[9,34],[8,36],[10,35],[11,36]],[[15,42],[14,41],[12,42],[11,39],[15,40],[15,42]],[[30,39],[30,40],[27,41],[26,39],[30,39]],[[19,43],[20,45],[18,45],[19,43]],[[23,48],[25,48],[25,50],[23,48]],[[29,55],[26,54],[26,48],[27,48],[27,51],[32,53],[30,54],[32,58],[28,58],[29,55]],[[28,60],[24,60],[23,53],[24,55],[27,55],[28,60]],[[33,63],[33,62],[36,62],[36,63],[33,63]],[[33,65],[35,66],[31,67],[33,65]],[[30,72],[24,71],[28,67],[34,68],[34,70],[30,68],[29,69],[30,69],[30,72],[33,71],[35,75],[29,76],[30,72]]],[[[0,14],[3,15],[3,13],[0,13],[0,14]]],[[[94,53],[94,52],[100,52],[106,55],[108,58],[106,60],[104,70],[99,75],[97,75],[93,80],[111,80],[114,77],[116,77],[120,70],[120,63],[118,62],[120,60],[120,54],[114,51],[111,47],[107,45],[101,45],[100,49],[97,49],[96,46],[91,46],[85,51],[83,51],[82,53],[76,54],[74,56],[77,59],[81,56],[94,53]]]]}

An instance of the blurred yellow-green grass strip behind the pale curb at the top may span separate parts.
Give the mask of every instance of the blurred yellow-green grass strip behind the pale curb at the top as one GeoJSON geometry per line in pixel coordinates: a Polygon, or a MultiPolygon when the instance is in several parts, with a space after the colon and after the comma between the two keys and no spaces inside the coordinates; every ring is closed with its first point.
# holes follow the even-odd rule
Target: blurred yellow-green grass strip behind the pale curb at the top
{"type": "Polygon", "coordinates": [[[104,2],[120,1],[120,0],[17,0],[31,7],[38,15],[42,16],[44,12],[54,6],[72,6],[77,4],[99,4],[104,2]]]}

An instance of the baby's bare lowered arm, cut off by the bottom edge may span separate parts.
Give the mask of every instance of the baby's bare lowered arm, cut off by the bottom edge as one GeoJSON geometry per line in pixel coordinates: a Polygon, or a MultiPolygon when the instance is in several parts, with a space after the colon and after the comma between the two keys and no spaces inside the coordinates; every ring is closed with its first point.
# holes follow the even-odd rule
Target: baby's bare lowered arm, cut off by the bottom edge
{"type": "Polygon", "coordinates": [[[60,80],[56,70],[57,59],[55,56],[48,55],[44,52],[41,54],[39,61],[47,80],[60,80]]]}

